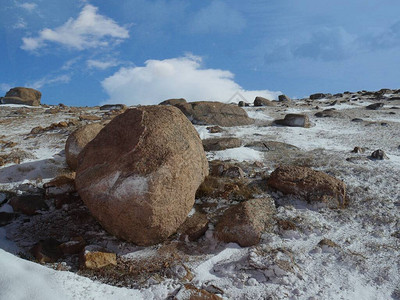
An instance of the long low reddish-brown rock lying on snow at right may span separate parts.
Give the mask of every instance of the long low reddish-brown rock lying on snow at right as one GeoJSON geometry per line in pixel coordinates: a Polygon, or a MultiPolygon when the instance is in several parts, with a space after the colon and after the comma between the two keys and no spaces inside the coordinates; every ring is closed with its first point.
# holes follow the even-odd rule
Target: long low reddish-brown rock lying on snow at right
{"type": "Polygon", "coordinates": [[[309,203],[322,202],[330,208],[346,205],[346,185],[343,181],[307,167],[281,166],[271,173],[267,184],[309,203]]]}

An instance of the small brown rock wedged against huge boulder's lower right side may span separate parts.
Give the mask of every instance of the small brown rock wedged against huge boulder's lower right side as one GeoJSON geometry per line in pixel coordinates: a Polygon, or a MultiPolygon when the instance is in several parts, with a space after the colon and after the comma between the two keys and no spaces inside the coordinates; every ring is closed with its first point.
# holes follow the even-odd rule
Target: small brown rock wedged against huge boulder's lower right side
{"type": "Polygon", "coordinates": [[[208,229],[208,218],[206,214],[196,211],[187,217],[185,222],[178,228],[177,233],[180,234],[181,240],[189,240],[191,242],[201,238],[208,229]]]}

